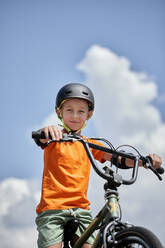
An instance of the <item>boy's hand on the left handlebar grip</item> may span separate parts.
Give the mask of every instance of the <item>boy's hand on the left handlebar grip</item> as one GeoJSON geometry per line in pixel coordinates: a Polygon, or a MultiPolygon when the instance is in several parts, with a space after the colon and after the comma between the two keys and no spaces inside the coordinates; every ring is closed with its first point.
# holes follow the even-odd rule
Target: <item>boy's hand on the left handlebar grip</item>
{"type": "Polygon", "coordinates": [[[52,140],[62,139],[62,130],[56,126],[47,126],[42,128],[41,131],[45,133],[45,137],[46,137],[46,139],[40,139],[40,142],[43,144],[47,143],[50,140],[49,134],[51,135],[52,140]]]}

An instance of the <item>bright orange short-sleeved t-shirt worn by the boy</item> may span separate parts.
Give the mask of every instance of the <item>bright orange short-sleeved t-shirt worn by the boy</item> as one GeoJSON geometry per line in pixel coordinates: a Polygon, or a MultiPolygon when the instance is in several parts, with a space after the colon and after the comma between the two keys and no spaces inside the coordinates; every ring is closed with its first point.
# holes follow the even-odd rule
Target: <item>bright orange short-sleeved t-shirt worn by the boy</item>
{"type": "MultiPolygon", "coordinates": [[[[102,145],[86,139],[86,141],[102,145]]],[[[104,162],[104,152],[91,149],[104,162]]],[[[53,209],[89,209],[87,199],[91,163],[81,142],[56,142],[44,149],[42,194],[37,213],[53,209]]]]}

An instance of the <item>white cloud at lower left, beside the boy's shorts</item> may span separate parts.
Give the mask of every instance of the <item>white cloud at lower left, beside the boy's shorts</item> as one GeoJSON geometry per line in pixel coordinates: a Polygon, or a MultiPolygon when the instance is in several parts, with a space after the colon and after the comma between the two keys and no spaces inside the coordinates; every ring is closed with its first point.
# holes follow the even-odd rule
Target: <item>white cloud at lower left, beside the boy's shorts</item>
{"type": "Polygon", "coordinates": [[[0,182],[0,240],[3,248],[37,247],[35,180],[8,178],[0,182]]]}

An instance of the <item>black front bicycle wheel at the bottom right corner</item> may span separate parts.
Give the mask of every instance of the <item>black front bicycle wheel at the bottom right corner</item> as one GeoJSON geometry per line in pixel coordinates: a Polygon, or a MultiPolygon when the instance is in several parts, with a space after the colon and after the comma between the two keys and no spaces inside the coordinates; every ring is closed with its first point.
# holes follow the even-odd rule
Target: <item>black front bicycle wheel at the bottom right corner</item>
{"type": "Polygon", "coordinates": [[[115,238],[117,244],[112,248],[163,248],[155,234],[143,227],[126,228],[115,238]]]}

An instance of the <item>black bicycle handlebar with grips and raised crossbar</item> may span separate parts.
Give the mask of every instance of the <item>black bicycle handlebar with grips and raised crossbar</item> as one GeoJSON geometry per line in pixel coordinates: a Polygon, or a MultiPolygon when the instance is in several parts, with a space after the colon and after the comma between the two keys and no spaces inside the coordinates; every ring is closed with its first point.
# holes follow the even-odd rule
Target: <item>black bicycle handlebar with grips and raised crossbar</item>
{"type": "MultiPolygon", "coordinates": [[[[39,139],[45,139],[45,133],[41,130],[39,131],[33,131],[32,132],[32,138],[39,140],[39,139]]],[[[54,140],[51,140],[51,136],[49,135],[50,141],[48,143],[52,143],[52,142],[57,142],[54,140]]],[[[102,140],[100,138],[100,140],[102,140]]],[[[152,163],[151,160],[148,157],[143,157],[140,154],[138,155],[134,155],[134,154],[130,154],[130,153],[126,153],[126,152],[121,152],[121,151],[116,151],[114,149],[108,148],[108,147],[104,147],[104,146],[100,146],[100,145],[96,145],[90,142],[85,141],[82,137],[77,136],[77,135],[68,135],[68,134],[63,134],[63,138],[60,139],[58,142],[74,142],[74,141],[79,141],[83,144],[86,153],[89,157],[89,160],[94,168],[94,170],[96,171],[96,173],[101,176],[102,178],[106,179],[106,180],[118,180],[119,184],[125,184],[125,185],[129,185],[129,184],[133,184],[136,181],[137,178],[137,174],[138,174],[138,163],[139,160],[143,161],[143,164],[145,165],[145,167],[149,168],[153,173],[155,173],[157,175],[157,177],[159,178],[159,180],[162,180],[162,177],[159,174],[163,174],[164,173],[164,168],[160,167],[158,169],[154,169],[152,167],[152,163]],[[112,169],[108,169],[108,172],[103,173],[101,171],[101,169],[99,168],[99,166],[97,166],[97,163],[93,157],[92,152],[90,151],[90,148],[94,148],[97,150],[101,150],[110,154],[115,154],[117,156],[120,157],[124,157],[124,158],[128,158],[128,159],[132,159],[134,161],[134,166],[133,166],[133,171],[132,171],[132,177],[129,180],[125,180],[123,179],[120,175],[116,174],[112,169]]]]}

